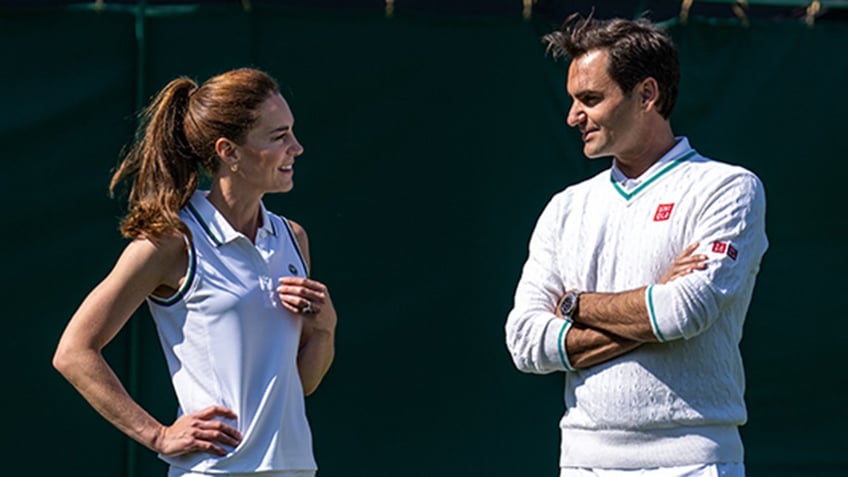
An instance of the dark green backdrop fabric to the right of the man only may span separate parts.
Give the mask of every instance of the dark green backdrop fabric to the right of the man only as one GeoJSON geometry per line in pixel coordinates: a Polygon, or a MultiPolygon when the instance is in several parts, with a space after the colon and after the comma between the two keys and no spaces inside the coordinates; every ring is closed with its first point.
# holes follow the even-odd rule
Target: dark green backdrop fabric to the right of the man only
{"type": "Polygon", "coordinates": [[[742,341],[751,475],[844,475],[848,379],[838,296],[848,219],[840,153],[848,96],[842,24],[675,27],[683,81],[676,125],[701,152],[763,180],[770,247],[742,341]],[[790,305],[794,303],[794,305],[790,305]],[[797,306],[796,306],[797,305],[797,306]],[[762,469],[762,470],[761,470],[762,469]],[[759,473],[762,472],[762,473],[759,473]]]}

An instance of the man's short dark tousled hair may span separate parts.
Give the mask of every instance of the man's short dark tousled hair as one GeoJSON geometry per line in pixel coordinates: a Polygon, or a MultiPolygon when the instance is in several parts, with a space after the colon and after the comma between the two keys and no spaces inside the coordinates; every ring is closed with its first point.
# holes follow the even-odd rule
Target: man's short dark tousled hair
{"type": "Polygon", "coordinates": [[[543,40],[555,58],[577,59],[592,50],[606,50],[607,72],[626,95],[640,81],[654,78],[660,90],[657,110],[666,119],[671,115],[680,81],[677,47],[650,21],[596,20],[591,15],[581,18],[574,14],[561,30],[545,35],[543,40]]]}

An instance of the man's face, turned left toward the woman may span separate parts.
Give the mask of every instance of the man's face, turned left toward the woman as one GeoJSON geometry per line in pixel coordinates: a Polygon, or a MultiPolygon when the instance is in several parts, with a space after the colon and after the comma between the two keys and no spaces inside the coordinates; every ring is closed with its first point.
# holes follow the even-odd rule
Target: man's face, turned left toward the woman
{"type": "Polygon", "coordinates": [[[573,102],[567,123],[577,127],[586,157],[621,158],[638,150],[640,118],[638,95],[627,96],[607,73],[609,54],[591,50],[572,60],[568,94],[573,102]]]}

